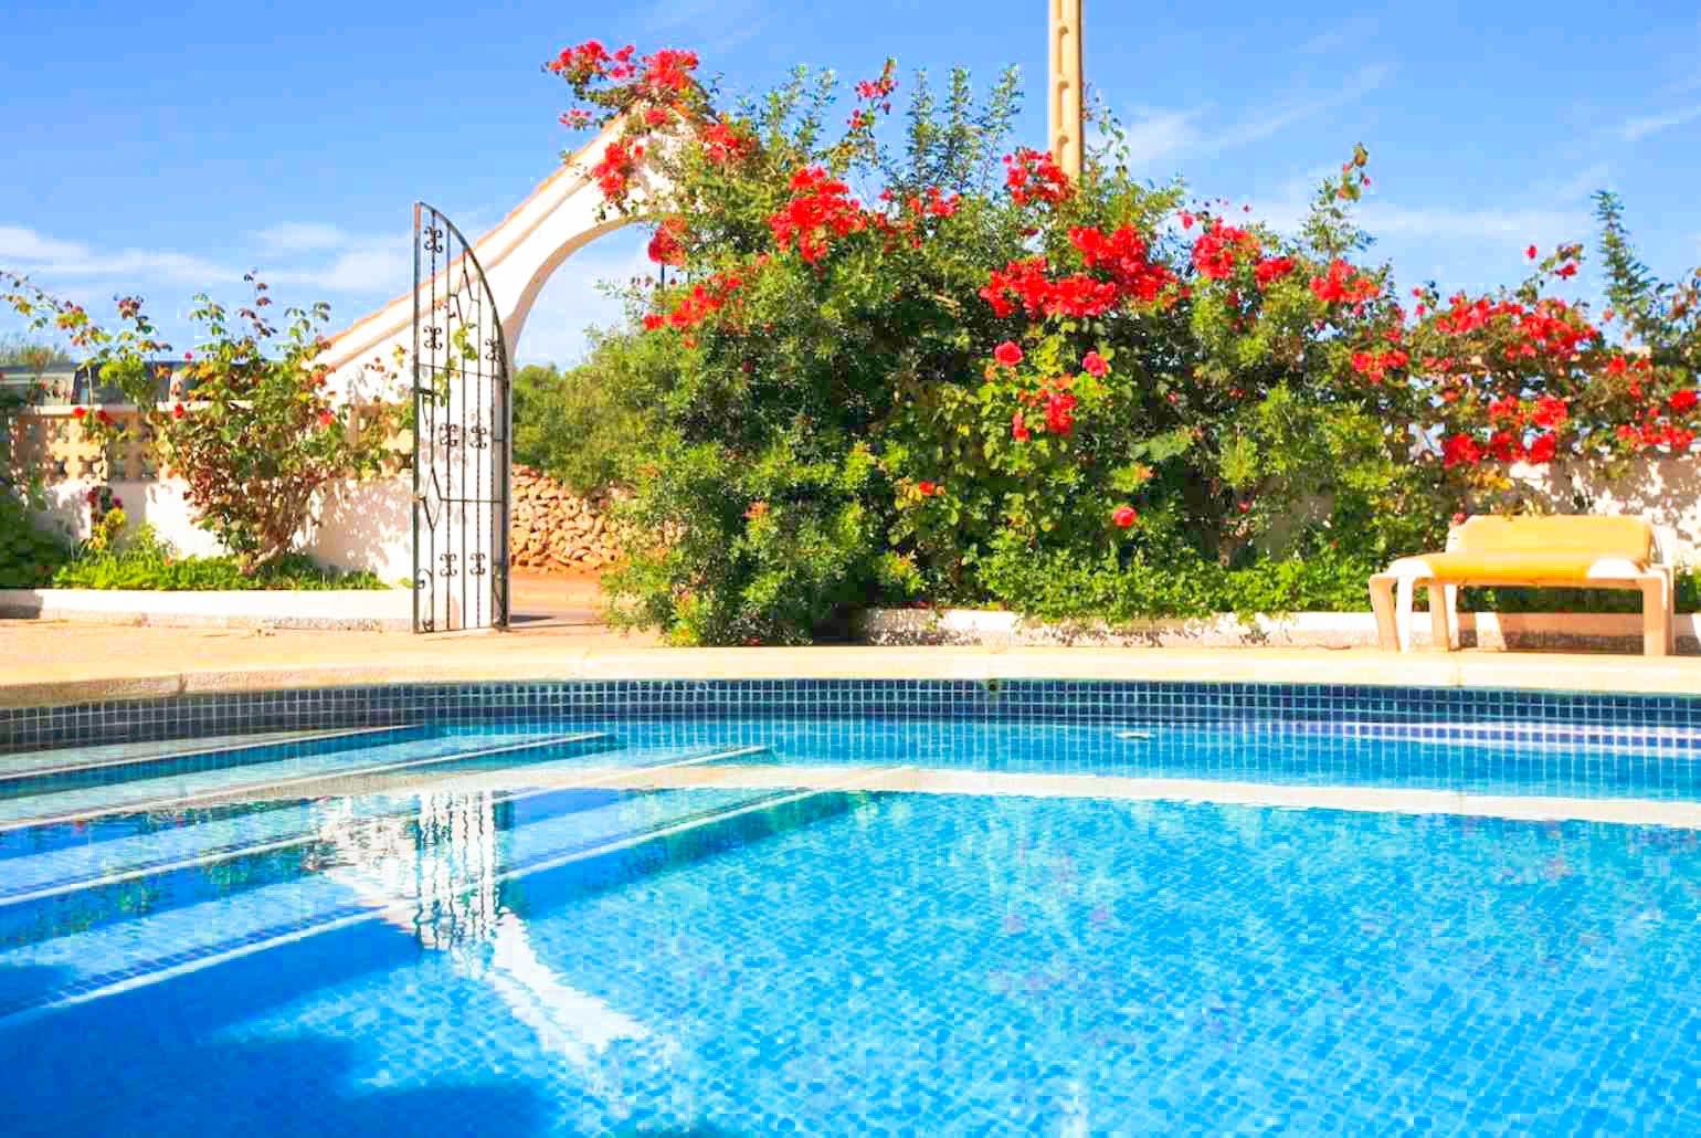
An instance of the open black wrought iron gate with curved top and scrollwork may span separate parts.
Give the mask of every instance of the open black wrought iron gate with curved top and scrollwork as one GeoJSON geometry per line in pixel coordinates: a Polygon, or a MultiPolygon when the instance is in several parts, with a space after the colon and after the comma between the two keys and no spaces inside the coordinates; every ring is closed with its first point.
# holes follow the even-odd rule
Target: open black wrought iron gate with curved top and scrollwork
{"type": "Polygon", "coordinates": [[[509,347],[454,225],[413,204],[413,631],[509,623],[509,347]]]}

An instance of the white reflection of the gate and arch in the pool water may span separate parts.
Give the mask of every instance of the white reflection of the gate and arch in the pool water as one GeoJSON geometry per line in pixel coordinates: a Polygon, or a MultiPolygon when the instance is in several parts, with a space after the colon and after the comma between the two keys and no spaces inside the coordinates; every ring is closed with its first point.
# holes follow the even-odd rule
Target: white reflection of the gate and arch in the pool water
{"type": "Polygon", "coordinates": [[[551,971],[524,919],[503,905],[498,844],[512,810],[490,791],[420,793],[412,817],[356,817],[349,799],[321,803],[318,835],[332,854],[325,876],[490,985],[543,1048],[599,1082],[600,1055],[623,1039],[650,1039],[650,1029],[551,971]]]}

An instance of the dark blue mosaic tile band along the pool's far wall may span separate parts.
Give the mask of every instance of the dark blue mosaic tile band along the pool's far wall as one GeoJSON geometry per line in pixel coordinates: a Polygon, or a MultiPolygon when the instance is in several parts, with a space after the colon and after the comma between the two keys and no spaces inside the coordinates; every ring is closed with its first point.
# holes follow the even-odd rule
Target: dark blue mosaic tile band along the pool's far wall
{"type": "MultiPolygon", "coordinates": [[[[0,754],[185,738],[211,731],[490,720],[874,716],[1063,723],[1267,723],[1361,733],[1405,725],[1431,738],[1592,742],[1669,733],[1701,740],[1701,697],[1516,689],[1182,680],[526,680],[316,687],[0,709],[0,754]],[[1505,725],[1483,735],[1485,725],[1505,725]],[[1597,728],[1597,730],[1596,730],[1597,728]]],[[[1701,743],[1698,743],[1701,745],[1701,743]]]]}

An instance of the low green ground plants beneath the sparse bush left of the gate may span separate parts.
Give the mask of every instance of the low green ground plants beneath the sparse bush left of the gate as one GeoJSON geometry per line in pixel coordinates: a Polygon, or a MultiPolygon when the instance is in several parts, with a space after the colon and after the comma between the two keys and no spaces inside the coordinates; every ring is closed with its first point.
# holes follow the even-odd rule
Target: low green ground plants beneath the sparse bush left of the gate
{"type": "Polygon", "coordinates": [[[386,589],[373,573],[330,570],[299,553],[272,558],[252,573],[245,572],[242,561],[233,556],[179,556],[148,526],[136,527],[104,549],[82,548],[53,572],[51,585],[54,589],[150,589],[165,592],[386,589]]]}

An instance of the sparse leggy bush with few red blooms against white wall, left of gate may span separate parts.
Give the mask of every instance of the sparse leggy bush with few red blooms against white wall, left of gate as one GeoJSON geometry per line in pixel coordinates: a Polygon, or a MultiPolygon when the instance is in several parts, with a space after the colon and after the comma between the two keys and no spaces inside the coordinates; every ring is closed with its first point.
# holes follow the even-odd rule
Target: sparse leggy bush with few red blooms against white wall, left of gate
{"type": "MultiPolygon", "coordinates": [[[[247,577],[291,553],[308,524],[316,495],[332,483],[393,468],[395,417],[379,408],[352,432],[349,408],[325,391],[330,369],[321,328],[325,304],[287,310],[282,325],[269,320],[270,293],[248,277],[252,299],[235,313],[196,298],[191,320],[199,349],[184,364],[162,369],[168,349],[139,298],[116,301],[117,321],[99,325],[87,310],[58,299],[29,281],[0,274],[5,299],[31,327],[63,335],[87,354],[99,384],[114,388],[141,412],[163,444],[170,471],[184,480],[196,524],[213,532],[247,577]]],[[[116,446],[128,420],[104,407],[75,408],[82,430],[116,446]]],[[[94,541],[111,544],[122,527],[122,504],[111,488],[88,497],[94,541]],[[114,524],[116,515],[116,524],[114,524]]]]}

